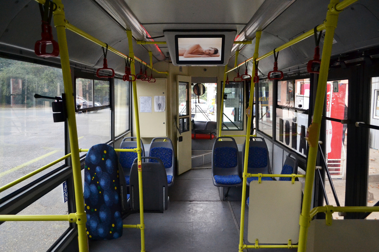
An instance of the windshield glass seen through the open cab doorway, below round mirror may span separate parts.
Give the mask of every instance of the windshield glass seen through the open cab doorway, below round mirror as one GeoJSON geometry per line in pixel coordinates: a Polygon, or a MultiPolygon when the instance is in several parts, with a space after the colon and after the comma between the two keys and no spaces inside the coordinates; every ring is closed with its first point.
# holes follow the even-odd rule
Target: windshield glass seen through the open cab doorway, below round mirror
{"type": "MultiPolygon", "coordinates": [[[[192,83],[194,84],[194,83],[192,83]]],[[[205,93],[197,96],[191,88],[191,116],[195,121],[217,121],[216,94],[217,83],[200,83],[205,93]]]]}

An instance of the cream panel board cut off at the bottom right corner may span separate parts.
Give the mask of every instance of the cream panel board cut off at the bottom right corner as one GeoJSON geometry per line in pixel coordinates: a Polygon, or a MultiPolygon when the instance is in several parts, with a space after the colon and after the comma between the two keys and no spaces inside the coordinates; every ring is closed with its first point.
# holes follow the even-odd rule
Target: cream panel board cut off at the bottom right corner
{"type": "Polygon", "coordinates": [[[379,221],[313,220],[308,228],[307,252],[377,252],[379,221]]]}

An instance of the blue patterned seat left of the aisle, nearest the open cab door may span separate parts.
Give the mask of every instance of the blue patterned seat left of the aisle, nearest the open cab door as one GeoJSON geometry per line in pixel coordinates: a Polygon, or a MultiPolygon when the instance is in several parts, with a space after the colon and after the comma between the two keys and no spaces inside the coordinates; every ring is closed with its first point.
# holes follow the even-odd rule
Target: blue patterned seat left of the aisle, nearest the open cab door
{"type": "MultiPolygon", "coordinates": [[[[150,143],[150,157],[159,158],[166,168],[168,186],[174,184],[175,172],[175,153],[174,146],[169,138],[153,138],[150,143]],[[157,139],[165,139],[165,141],[157,141],[157,139]]],[[[149,162],[157,162],[155,159],[149,159],[149,162]]]]}

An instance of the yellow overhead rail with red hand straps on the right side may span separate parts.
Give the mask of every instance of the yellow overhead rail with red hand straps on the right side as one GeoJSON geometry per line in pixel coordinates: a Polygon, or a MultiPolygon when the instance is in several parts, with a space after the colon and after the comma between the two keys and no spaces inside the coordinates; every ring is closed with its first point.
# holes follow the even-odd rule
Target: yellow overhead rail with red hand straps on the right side
{"type": "MultiPolygon", "coordinates": [[[[336,12],[339,12],[339,11],[343,10],[344,8],[346,8],[347,6],[349,6],[349,5],[351,5],[352,3],[355,3],[355,2],[357,2],[357,1],[358,1],[358,0],[344,0],[344,1],[340,2],[340,3],[338,3],[338,4],[335,6],[335,11],[336,11],[336,12]]],[[[325,24],[324,24],[324,23],[322,23],[321,25],[318,25],[318,26],[317,26],[317,31],[322,31],[322,30],[324,30],[324,29],[325,29],[325,24]]],[[[311,29],[311,30],[305,32],[304,34],[301,34],[299,37],[296,37],[295,39],[293,39],[293,40],[291,40],[291,41],[285,43],[284,45],[281,45],[281,46],[275,48],[275,52],[277,53],[277,52],[279,52],[279,51],[282,51],[283,49],[285,49],[285,48],[287,48],[287,47],[290,47],[291,45],[294,45],[294,44],[300,42],[301,40],[306,39],[307,37],[312,36],[314,33],[315,33],[314,29],[311,29]]],[[[271,55],[273,55],[273,54],[274,54],[274,51],[271,51],[271,52],[269,52],[269,53],[266,53],[266,54],[264,54],[264,55],[258,57],[258,58],[257,58],[257,61],[262,60],[262,59],[265,59],[265,58],[267,58],[268,56],[271,56],[271,55]]],[[[233,71],[233,70],[237,69],[238,67],[240,67],[241,65],[243,65],[245,62],[249,62],[249,61],[251,61],[251,60],[253,60],[253,57],[251,57],[250,59],[247,59],[246,61],[242,62],[242,63],[239,64],[238,66],[233,67],[232,69],[230,69],[230,70],[227,71],[226,73],[229,73],[230,71],[233,71]]]]}

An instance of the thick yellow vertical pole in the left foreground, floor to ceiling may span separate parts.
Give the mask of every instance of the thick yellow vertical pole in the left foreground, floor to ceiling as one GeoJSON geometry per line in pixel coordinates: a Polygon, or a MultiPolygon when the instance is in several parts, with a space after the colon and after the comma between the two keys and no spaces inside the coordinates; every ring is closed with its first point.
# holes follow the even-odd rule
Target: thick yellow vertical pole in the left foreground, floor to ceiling
{"type": "Polygon", "coordinates": [[[86,212],[84,210],[83,188],[81,183],[78,132],[76,128],[75,118],[75,100],[74,91],[72,89],[70,61],[66,39],[66,20],[64,16],[64,7],[62,5],[62,1],[54,0],[54,3],[56,3],[57,5],[56,10],[54,11],[54,25],[58,34],[64,93],[66,93],[66,110],[70,136],[72,174],[74,176],[75,204],[77,216],[76,224],[78,225],[79,251],[86,252],[88,251],[86,234],[86,212]]]}

